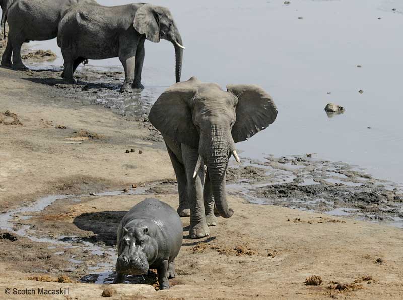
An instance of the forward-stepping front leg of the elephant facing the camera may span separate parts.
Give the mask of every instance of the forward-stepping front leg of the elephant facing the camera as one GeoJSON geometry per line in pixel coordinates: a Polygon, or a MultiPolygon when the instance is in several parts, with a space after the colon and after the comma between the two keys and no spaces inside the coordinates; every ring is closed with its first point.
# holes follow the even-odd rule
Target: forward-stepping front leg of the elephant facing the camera
{"type": "Polygon", "coordinates": [[[189,236],[192,239],[203,238],[210,234],[203,203],[204,166],[200,167],[196,178],[193,178],[198,150],[182,144],[182,158],[186,170],[187,198],[190,203],[189,236]]]}

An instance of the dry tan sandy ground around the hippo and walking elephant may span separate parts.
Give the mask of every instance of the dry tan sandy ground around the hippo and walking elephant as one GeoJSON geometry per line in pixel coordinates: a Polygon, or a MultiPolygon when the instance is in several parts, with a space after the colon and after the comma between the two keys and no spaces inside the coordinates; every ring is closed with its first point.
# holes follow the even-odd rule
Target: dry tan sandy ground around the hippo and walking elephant
{"type": "MultiPolygon", "coordinates": [[[[26,77],[24,72],[0,68],[1,212],[49,194],[88,195],[174,180],[163,144],[149,141],[155,132],[148,123],[127,121],[101,106],[66,99],[60,90],[22,79],[26,77]],[[5,115],[6,111],[10,114],[5,115]],[[17,125],[6,125],[9,123],[17,125]],[[56,128],[58,125],[66,128],[56,128]],[[126,154],[131,148],[135,152],[126,154]]],[[[38,237],[76,235],[113,247],[114,231],[125,211],[150,196],[176,207],[174,187],[165,183],[147,195],[57,201],[25,223],[21,219],[16,224],[30,224],[38,237]]],[[[81,254],[83,262],[77,270],[65,270],[72,265],[68,255],[73,252],[56,254],[59,246],[52,248],[47,242],[14,233],[16,241],[0,239],[0,298],[29,298],[6,297],[6,288],[69,288],[68,296],[36,294],[31,297],[35,299],[100,298],[107,287],[114,290],[116,299],[403,297],[401,229],[253,205],[234,196],[229,202],[234,216],[219,218],[219,225],[211,228],[207,238],[188,239],[189,220],[182,219],[184,240],[177,257],[178,276],[170,280],[169,291],[155,291],[151,285],[77,283],[89,274],[91,260],[99,262],[102,256],[81,254]],[[320,276],[322,283],[305,285],[311,275],[320,276]],[[47,276],[46,281],[68,276],[64,281],[73,282],[32,280],[41,276],[47,276]]]]}

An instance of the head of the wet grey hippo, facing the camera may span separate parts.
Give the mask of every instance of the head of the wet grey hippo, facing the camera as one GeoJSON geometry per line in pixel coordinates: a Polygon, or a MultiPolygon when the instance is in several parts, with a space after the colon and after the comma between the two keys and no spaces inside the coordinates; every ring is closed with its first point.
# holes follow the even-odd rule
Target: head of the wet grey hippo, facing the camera
{"type": "Polygon", "coordinates": [[[127,224],[123,227],[118,245],[119,257],[116,272],[141,275],[147,273],[158,253],[157,241],[149,235],[144,224],[127,224]]]}

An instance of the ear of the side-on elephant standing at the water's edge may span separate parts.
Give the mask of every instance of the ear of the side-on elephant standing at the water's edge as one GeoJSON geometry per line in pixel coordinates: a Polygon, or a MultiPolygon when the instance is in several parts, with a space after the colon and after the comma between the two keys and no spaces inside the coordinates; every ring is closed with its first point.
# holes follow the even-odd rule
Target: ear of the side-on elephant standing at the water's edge
{"type": "Polygon", "coordinates": [[[133,26],[138,33],[145,34],[147,40],[158,43],[160,41],[160,26],[154,9],[155,6],[152,4],[144,4],[138,8],[133,26]]]}

